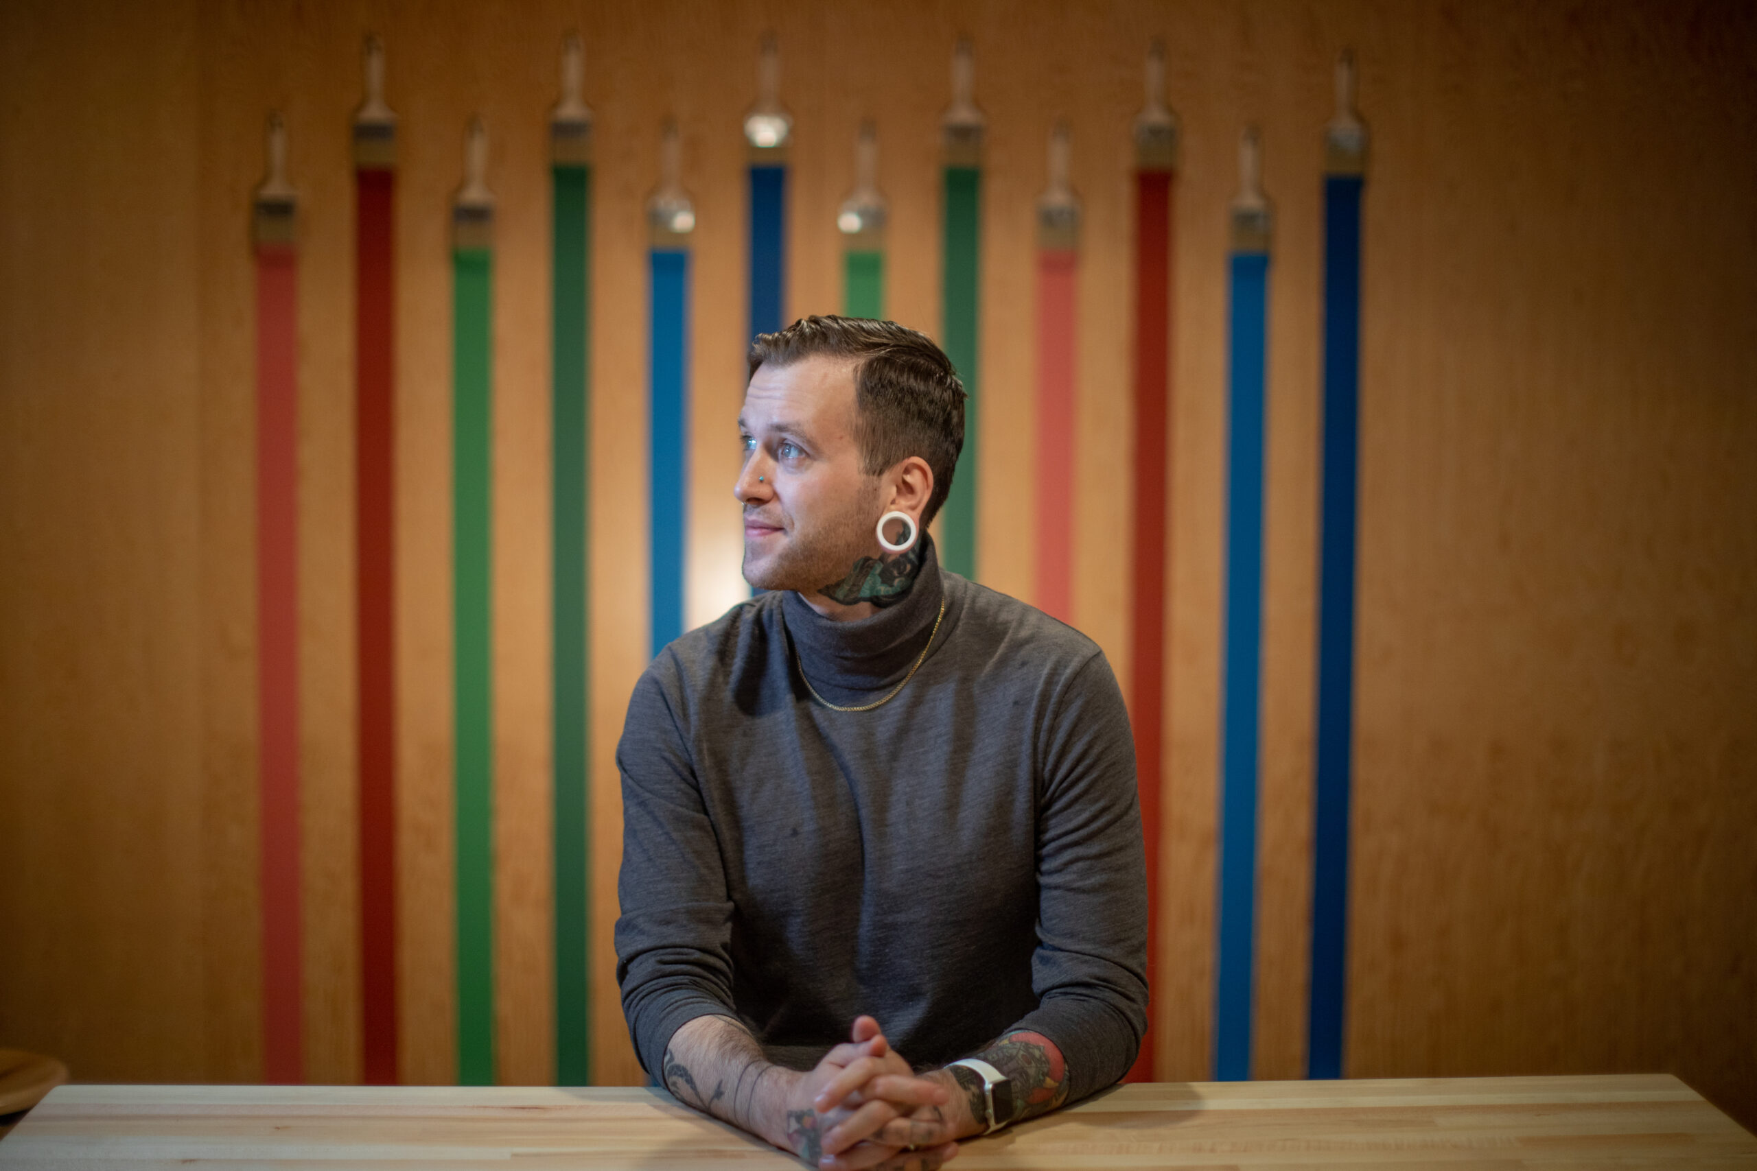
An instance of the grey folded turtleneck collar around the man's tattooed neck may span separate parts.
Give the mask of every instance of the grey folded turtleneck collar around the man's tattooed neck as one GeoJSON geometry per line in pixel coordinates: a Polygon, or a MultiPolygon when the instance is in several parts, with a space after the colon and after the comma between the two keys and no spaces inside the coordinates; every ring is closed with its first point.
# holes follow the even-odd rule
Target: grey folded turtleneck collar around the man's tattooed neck
{"type": "Polygon", "coordinates": [[[812,609],[805,599],[787,592],[782,618],[799,653],[799,665],[813,686],[866,692],[896,683],[914,665],[928,641],[945,583],[933,539],[922,534],[926,551],[915,585],[903,600],[886,606],[870,618],[836,621],[812,609]]]}

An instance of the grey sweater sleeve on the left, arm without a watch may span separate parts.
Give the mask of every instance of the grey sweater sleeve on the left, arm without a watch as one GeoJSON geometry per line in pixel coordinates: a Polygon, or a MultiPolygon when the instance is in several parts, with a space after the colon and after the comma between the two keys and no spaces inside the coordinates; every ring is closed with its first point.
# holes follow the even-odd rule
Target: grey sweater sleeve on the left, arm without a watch
{"type": "Polygon", "coordinates": [[[736,1017],[733,901],[689,744],[666,699],[662,672],[675,671],[669,653],[647,669],[617,744],[617,985],[634,1052],[654,1076],[680,1025],[696,1017],[736,1017]]]}

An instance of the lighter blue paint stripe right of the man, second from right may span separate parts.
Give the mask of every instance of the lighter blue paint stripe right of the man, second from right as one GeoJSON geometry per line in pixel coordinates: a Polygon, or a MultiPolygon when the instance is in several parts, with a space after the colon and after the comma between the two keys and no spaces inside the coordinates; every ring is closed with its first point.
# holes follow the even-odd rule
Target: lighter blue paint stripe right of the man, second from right
{"type": "Polygon", "coordinates": [[[1226,341],[1226,650],[1221,678],[1221,806],[1214,1076],[1251,1076],[1256,936],[1256,753],[1263,643],[1263,369],[1269,255],[1230,258],[1226,341]]]}

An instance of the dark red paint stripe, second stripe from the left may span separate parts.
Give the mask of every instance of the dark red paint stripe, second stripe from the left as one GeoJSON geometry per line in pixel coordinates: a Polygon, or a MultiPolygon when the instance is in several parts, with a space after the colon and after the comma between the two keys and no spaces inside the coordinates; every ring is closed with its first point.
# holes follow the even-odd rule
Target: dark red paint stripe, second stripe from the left
{"type": "Polygon", "coordinates": [[[367,1085],[397,1081],[390,170],[357,170],[355,490],[360,672],[360,1024],[367,1085]]]}

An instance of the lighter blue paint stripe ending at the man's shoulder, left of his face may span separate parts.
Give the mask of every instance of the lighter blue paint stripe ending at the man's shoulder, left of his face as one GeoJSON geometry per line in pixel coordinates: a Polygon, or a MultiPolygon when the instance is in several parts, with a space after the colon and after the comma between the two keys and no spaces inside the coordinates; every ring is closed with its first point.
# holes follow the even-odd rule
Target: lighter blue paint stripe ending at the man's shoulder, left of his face
{"type": "Polygon", "coordinates": [[[689,251],[652,249],[652,653],[683,634],[689,492],[689,251]]]}

